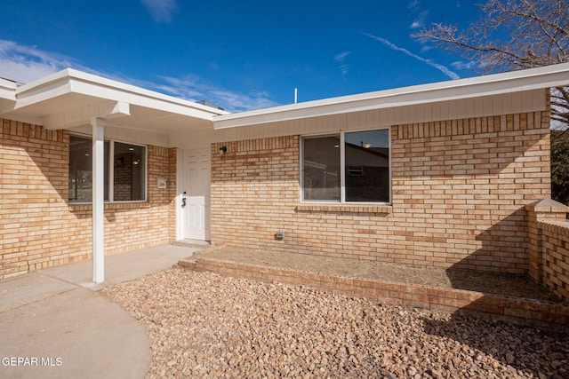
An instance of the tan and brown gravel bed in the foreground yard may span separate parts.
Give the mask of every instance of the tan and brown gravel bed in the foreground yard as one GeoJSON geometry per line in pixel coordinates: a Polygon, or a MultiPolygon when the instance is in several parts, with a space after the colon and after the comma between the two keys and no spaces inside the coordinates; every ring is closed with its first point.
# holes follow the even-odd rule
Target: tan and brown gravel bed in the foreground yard
{"type": "Polygon", "coordinates": [[[569,377],[569,334],[173,268],[103,293],[144,322],[148,377],[569,377]]]}

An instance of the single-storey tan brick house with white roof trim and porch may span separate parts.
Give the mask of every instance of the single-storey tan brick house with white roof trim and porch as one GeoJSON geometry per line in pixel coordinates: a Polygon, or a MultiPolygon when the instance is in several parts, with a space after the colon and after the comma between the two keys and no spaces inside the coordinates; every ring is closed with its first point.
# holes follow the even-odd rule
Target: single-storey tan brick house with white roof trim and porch
{"type": "Polygon", "coordinates": [[[228,114],[76,70],[0,79],[0,279],[176,240],[531,271],[569,64],[228,114]],[[94,225],[94,227],[93,227],[94,225]]]}

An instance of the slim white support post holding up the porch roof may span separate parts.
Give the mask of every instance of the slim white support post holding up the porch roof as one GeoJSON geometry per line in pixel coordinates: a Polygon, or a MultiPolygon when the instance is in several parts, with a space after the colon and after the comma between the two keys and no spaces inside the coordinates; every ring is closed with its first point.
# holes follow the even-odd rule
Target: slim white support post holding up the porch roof
{"type": "Polygon", "coordinates": [[[92,281],[105,281],[105,122],[92,125],[92,281]]]}

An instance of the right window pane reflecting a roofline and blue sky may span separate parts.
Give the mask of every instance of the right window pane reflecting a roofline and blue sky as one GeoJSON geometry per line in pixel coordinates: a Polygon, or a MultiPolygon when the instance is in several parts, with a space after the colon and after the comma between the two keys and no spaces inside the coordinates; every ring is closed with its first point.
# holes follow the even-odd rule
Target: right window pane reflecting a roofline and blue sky
{"type": "Polygon", "coordinates": [[[389,130],[346,133],[346,201],[389,202],[389,130]]]}

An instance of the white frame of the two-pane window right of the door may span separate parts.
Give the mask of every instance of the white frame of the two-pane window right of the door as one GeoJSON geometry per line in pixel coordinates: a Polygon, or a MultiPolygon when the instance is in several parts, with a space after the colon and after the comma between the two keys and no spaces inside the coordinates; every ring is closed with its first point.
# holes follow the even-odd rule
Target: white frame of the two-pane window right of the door
{"type": "Polygon", "coordinates": [[[300,198],[302,203],[307,204],[349,204],[349,205],[391,205],[393,201],[393,171],[391,170],[391,128],[374,128],[362,130],[340,130],[335,132],[320,133],[320,134],[306,134],[301,136],[301,160],[300,160],[300,173],[301,173],[301,193],[300,198]],[[388,130],[389,139],[389,201],[346,201],[346,133],[357,133],[359,131],[375,131],[375,130],[388,130]],[[304,200],[304,140],[307,138],[322,138],[340,135],[340,201],[331,200],[304,200]]]}

